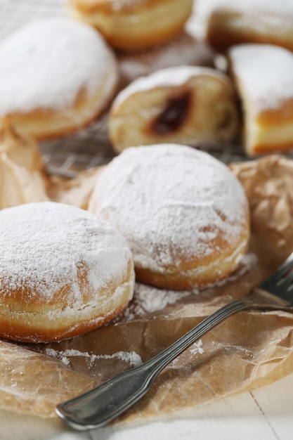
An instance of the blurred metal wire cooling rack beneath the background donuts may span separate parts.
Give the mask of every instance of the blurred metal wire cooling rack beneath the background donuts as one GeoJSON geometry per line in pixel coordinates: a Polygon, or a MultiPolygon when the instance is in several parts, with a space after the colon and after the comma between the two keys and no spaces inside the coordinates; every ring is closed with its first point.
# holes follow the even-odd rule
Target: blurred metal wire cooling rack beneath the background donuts
{"type": "MultiPolygon", "coordinates": [[[[189,30],[200,35],[204,29],[204,11],[215,0],[197,0],[200,6],[188,22],[189,30]],[[204,4],[204,7],[202,7],[204,4]]],[[[0,0],[0,42],[4,37],[38,18],[66,16],[63,0],[0,0]]],[[[41,142],[39,148],[51,174],[72,177],[79,171],[108,163],[115,153],[108,141],[107,115],[77,134],[56,141],[41,142]]],[[[219,160],[239,162],[247,159],[240,145],[196,145],[219,160]]]]}

